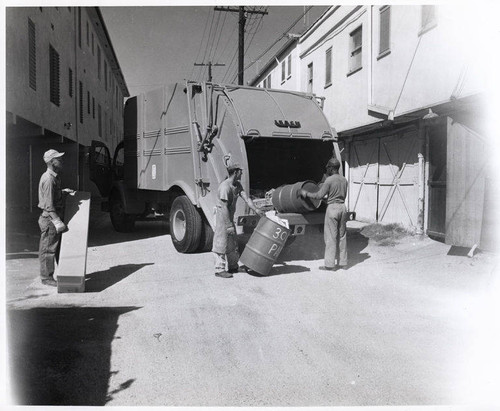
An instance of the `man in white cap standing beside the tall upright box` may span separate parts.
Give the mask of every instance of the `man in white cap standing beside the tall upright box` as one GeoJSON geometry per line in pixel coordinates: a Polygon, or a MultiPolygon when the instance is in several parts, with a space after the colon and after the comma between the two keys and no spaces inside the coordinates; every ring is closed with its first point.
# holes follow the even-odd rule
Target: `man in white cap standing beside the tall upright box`
{"type": "Polygon", "coordinates": [[[62,156],[56,150],[50,149],[43,155],[43,161],[47,164],[47,171],[42,174],[38,185],[38,208],[42,214],[38,219],[40,226],[40,248],[38,258],[40,260],[40,277],[42,284],[56,286],[54,280],[54,261],[61,233],[66,230],[62,222],[63,193],[74,193],[73,190],[65,188],[61,190],[61,179],[59,173],[63,167],[62,156]]]}

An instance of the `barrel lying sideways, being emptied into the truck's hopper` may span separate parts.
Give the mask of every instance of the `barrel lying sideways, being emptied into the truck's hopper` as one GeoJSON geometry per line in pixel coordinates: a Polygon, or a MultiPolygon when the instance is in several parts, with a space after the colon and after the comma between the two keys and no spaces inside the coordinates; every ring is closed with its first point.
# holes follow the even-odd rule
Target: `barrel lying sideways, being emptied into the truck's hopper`
{"type": "Polygon", "coordinates": [[[319,190],[318,185],[312,181],[300,181],[278,187],[274,190],[271,198],[276,210],[280,213],[306,213],[316,210],[320,206],[321,200],[299,197],[301,188],[313,193],[319,190]]]}

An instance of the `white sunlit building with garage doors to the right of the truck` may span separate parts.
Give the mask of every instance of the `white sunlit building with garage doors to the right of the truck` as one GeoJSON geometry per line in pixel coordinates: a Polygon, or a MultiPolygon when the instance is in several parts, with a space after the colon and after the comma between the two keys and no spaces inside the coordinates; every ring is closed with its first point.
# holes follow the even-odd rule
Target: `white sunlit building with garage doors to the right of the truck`
{"type": "MultiPolygon", "coordinates": [[[[472,247],[491,242],[488,76],[485,56],[468,47],[481,39],[458,11],[332,6],[288,54],[296,90],[325,98],[356,218],[472,247]]],[[[279,70],[265,66],[251,85],[267,87],[279,70]]]]}

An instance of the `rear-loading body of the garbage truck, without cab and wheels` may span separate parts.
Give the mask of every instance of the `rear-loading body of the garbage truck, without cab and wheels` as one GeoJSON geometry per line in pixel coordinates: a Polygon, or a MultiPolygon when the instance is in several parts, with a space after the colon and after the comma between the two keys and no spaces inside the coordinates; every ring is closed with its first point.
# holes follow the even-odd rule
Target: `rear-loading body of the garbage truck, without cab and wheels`
{"type": "MultiPolygon", "coordinates": [[[[125,185],[178,188],[212,227],[229,159],[241,165],[245,191],[262,198],[282,184],[319,181],[332,154],[340,158],[335,132],[310,94],[177,83],[128,99],[124,124],[125,185]]],[[[235,216],[248,211],[239,201],[235,216]]]]}

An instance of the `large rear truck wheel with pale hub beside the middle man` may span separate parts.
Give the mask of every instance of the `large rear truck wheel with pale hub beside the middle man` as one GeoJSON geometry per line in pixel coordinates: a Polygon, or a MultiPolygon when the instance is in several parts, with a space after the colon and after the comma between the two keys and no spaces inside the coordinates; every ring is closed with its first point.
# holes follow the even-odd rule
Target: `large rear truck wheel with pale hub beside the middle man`
{"type": "Polygon", "coordinates": [[[196,207],[185,195],[177,197],[170,210],[170,236],[180,253],[192,253],[198,248],[203,220],[196,207]]]}

